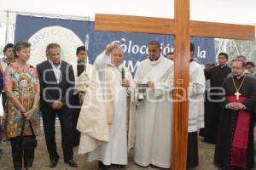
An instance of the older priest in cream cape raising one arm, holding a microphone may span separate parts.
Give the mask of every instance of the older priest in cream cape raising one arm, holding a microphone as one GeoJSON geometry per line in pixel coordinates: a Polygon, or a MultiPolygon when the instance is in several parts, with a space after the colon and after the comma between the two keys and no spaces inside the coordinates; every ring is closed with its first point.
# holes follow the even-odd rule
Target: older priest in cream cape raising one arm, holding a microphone
{"type": "MultiPolygon", "coordinates": [[[[131,72],[123,63],[120,44],[110,44],[95,62],[79,116],[79,154],[104,165],[127,164],[128,97],[131,72]]],[[[101,165],[100,164],[100,165],[101,165]]]]}

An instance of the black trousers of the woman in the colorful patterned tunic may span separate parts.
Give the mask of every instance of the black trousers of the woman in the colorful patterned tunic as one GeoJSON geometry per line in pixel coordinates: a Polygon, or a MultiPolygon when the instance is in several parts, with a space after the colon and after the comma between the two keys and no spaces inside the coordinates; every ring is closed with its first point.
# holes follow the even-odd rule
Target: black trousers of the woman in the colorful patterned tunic
{"type": "Polygon", "coordinates": [[[22,157],[24,158],[24,167],[32,167],[35,149],[21,149],[20,137],[11,138],[10,143],[15,170],[22,169],[22,157]]]}

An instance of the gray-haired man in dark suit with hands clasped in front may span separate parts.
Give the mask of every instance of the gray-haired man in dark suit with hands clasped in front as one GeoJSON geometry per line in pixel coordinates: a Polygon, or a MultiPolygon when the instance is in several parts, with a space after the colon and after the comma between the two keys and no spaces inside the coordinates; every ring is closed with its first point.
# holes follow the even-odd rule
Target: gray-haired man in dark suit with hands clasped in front
{"type": "Polygon", "coordinates": [[[64,162],[78,167],[73,161],[73,118],[70,99],[73,94],[74,73],[72,65],[61,60],[61,47],[50,43],[46,48],[47,60],[37,65],[40,81],[40,107],[44,134],[49,152],[49,167],[55,167],[60,156],[55,143],[55,115],[61,122],[61,144],[64,162]]]}

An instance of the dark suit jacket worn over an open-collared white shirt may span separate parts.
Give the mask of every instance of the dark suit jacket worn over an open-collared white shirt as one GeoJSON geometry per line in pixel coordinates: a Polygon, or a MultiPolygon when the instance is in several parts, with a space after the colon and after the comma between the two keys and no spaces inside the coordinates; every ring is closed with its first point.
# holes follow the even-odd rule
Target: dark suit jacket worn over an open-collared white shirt
{"type": "Polygon", "coordinates": [[[40,105],[42,108],[44,106],[51,107],[53,100],[59,100],[66,105],[70,103],[75,82],[72,65],[61,61],[61,79],[59,83],[48,60],[37,65],[37,69],[41,88],[40,105]]]}

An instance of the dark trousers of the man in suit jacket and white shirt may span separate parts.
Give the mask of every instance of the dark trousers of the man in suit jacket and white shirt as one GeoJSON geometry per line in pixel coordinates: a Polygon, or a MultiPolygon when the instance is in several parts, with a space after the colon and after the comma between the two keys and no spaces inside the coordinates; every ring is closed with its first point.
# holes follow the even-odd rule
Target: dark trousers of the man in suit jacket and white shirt
{"type": "Polygon", "coordinates": [[[54,110],[49,106],[41,107],[44,135],[46,140],[49,158],[59,157],[55,143],[55,116],[59,117],[61,122],[61,145],[64,161],[73,159],[73,116],[72,110],[64,105],[61,110],[54,110]]]}

